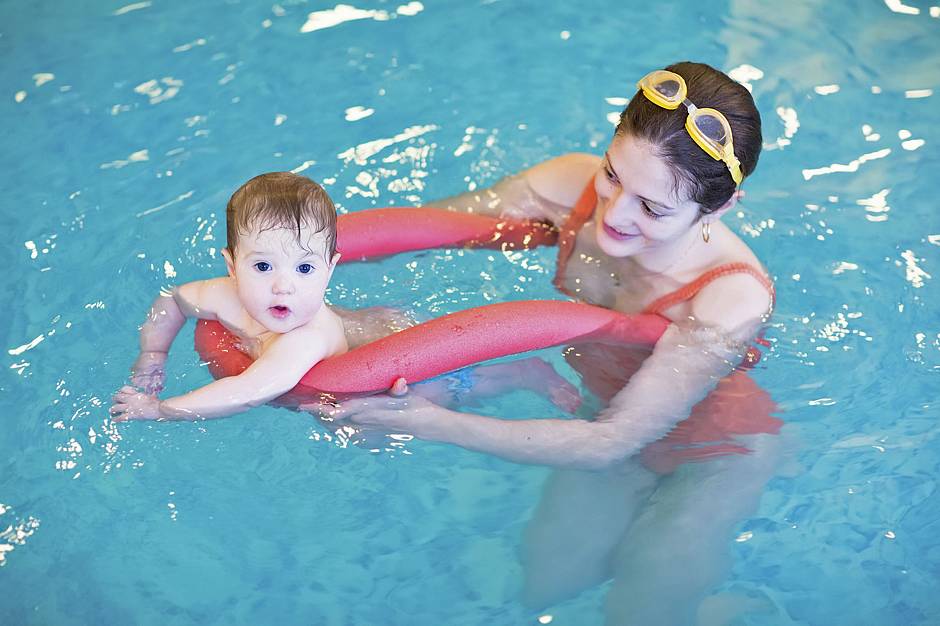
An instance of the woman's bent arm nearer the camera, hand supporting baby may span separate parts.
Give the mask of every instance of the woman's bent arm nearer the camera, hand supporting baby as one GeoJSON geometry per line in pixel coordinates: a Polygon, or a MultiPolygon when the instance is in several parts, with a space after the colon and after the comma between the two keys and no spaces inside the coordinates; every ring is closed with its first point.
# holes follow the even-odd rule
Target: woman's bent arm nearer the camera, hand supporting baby
{"type": "Polygon", "coordinates": [[[720,331],[673,324],[594,421],[503,420],[450,411],[413,396],[350,401],[338,417],[519,463],[600,469],[668,433],[731,371],[740,351],[741,344],[720,331]]]}

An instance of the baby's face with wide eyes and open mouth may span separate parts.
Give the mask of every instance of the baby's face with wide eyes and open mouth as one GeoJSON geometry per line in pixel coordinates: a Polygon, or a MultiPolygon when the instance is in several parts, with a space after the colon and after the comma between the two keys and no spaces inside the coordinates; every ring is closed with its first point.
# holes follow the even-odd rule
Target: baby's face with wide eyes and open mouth
{"type": "MultiPolygon", "coordinates": [[[[326,257],[324,233],[307,226],[240,235],[234,277],[242,306],[262,326],[286,333],[313,320],[335,267],[326,257]]],[[[338,257],[336,257],[338,258],[338,257]]]]}

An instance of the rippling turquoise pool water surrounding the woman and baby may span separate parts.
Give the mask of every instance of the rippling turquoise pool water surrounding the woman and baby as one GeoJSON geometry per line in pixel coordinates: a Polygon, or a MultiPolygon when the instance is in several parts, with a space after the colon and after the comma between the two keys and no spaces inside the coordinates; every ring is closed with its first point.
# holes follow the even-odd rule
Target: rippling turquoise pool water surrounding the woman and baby
{"type": "MultiPolygon", "coordinates": [[[[763,114],[728,221],[777,280],[754,375],[788,442],[705,547],[730,557],[705,618],[746,598],[734,623],[940,622],[940,8],[858,4],[0,2],[0,622],[604,623],[615,583],[519,600],[548,469],[370,452],[272,408],[116,428],[108,399],[154,294],[222,270],[249,177],[303,171],[343,211],[451,195],[599,153],[632,81],[684,58],[763,114]]],[[[433,251],[344,266],[330,299],[426,317],[556,297],[553,270],[433,251]]],[[[170,392],[208,380],[191,335],[170,392]]],[[[557,415],[522,392],[482,410],[557,415]]]]}

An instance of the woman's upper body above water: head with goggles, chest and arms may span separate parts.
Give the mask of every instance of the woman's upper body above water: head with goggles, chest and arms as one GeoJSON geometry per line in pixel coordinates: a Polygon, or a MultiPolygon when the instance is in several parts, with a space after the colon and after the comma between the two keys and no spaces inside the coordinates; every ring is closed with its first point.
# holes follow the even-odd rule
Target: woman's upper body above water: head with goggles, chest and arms
{"type": "MultiPolygon", "coordinates": [[[[555,282],[563,292],[672,322],[638,370],[620,372],[629,380],[622,389],[615,395],[597,390],[613,396],[605,398],[609,406],[593,421],[503,422],[410,398],[349,403],[342,415],[515,461],[603,468],[668,433],[731,372],[774,297],[754,253],[720,222],[737,203],[740,180],[757,165],[760,115],[744,87],[706,65],[653,72],[641,87],[604,157],[564,155],[491,189],[436,203],[560,226],[555,282]],[[698,109],[696,136],[690,134],[691,103],[720,112],[730,132],[721,117],[698,109]],[[695,143],[710,139],[718,140],[713,154],[725,147],[733,153],[715,159],[695,143]]],[[[584,356],[588,349],[578,352],[573,365],[587,370],[591,386],[590,369],[617,351],[603,350],[600,359],[584,356]]],[[[617,369],[612,365],[595,371],[595,378],[609,377],[617,369]]]]}

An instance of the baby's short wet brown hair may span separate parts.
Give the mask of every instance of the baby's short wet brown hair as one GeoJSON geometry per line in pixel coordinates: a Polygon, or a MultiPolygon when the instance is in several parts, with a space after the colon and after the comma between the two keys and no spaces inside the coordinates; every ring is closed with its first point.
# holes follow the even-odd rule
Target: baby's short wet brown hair
{"type": "MultiPolygon", "coordinates": [[[[323,187],[292,172],[255,176],[232,194],[225,208],[228,249],[235,255],[240,233],[291,228],[300,241],[301,229],[310,227],[326,235],[325,254],[336,253],[336,207],[323,187]]],[[[312,252],[312,251],[311,251],[312,252]]]]}

